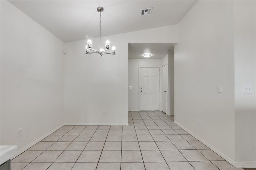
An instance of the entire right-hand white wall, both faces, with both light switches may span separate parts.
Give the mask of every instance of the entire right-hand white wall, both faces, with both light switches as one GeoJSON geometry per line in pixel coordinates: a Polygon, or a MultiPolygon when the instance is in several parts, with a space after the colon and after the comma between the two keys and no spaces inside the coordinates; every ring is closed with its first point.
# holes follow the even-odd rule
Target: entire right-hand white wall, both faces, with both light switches
{"type": "Polygon", "coordinates": [[[248,168],[256,167],[255,11],[255,1],[199,1],[180,22],[175,46],[175,121],[248,168]],[[244,84],[253,94],[243,94],[244,84]]]}

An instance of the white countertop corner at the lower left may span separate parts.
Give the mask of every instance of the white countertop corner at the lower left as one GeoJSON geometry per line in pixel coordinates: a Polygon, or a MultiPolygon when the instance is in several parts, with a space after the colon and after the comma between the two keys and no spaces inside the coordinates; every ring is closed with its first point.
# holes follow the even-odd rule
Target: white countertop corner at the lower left
{"type": "Polygon", "coordinates": [[[0,164],[3,164],[18,153],[17,146],[1,145],[0,146],[0,164]]]}

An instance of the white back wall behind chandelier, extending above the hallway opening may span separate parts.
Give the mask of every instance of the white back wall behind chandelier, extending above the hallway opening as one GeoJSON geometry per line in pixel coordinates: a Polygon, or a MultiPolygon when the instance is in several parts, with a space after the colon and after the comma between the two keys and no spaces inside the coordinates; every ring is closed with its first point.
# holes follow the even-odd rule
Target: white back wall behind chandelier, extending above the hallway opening
{"type": "MultiPolygon", "coordinates": [[[[128,43],[177,43],[178,25],[111,38],[116,42],[115,56],[86,55],[84,41],[65,44],[64,123],[127,125],[128,43]]],[[[93,41],[97,49],[99,39],[93,41]]]]}

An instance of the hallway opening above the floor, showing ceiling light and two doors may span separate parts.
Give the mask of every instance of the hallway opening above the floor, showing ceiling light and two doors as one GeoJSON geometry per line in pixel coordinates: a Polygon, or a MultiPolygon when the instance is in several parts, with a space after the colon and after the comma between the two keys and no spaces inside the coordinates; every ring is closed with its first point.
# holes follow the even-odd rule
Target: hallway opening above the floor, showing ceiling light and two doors
{"type": "Polygon", "coordinates": [[[159,110],[174,115],[174,45],[128,44],[129,111],[159,110]],[[145,53],[151,57],[143,57],[145,53]]]}

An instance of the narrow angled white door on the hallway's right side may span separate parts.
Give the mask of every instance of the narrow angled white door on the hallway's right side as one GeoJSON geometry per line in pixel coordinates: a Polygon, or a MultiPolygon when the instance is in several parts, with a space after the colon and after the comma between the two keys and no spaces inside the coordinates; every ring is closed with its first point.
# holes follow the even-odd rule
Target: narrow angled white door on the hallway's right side
{"type": "Polygon", "coordinates": [[[164,65],[162,66],[162,69],[161,69],[161,108],[162,108],[162,111],[167,114],[166,89],[167,89],[167,65],[164,65]]]}

